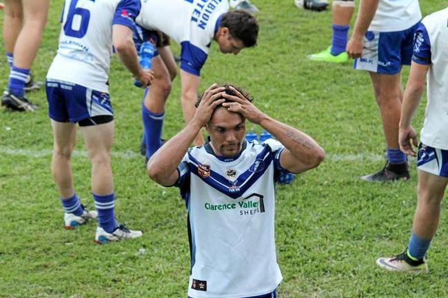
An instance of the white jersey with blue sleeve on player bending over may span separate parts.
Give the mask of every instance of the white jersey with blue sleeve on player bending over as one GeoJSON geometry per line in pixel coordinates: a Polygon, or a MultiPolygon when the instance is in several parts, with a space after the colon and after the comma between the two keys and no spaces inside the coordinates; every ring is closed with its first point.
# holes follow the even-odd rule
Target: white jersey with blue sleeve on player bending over
{"type": "Polygon", "coordinates": [[[136,23],[158,30],[182,47],[181,70],[199,76],[227,0],[143,0],[136,23]]]}

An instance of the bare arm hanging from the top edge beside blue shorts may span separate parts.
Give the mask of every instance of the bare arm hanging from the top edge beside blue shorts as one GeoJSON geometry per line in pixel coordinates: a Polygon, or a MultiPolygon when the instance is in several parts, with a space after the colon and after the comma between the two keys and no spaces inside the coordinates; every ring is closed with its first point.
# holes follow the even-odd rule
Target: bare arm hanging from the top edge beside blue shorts
{"type": "Polygon", "coordinates": [[[364,35],[374,19],[378,2],[379,0],[361,0],[353,34],[347,43],[347,54],[350,58],[358,58],[363,54],[364,35]]]}

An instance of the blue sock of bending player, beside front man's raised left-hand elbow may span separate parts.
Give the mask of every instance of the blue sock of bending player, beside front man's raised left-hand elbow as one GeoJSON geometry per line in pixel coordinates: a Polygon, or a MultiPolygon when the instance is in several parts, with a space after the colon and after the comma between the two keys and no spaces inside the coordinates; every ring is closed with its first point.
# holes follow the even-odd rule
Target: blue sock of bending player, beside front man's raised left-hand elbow
{"type": "Polygon", "coordinates": [[[151,158],[161,146],[161,136],[163,127],[163,118],[165,112],[153,113],[146,109],[145,105],[141,105],[141,117],[143,118],[143,129],[146,142],[146,158],[151,158]]]}

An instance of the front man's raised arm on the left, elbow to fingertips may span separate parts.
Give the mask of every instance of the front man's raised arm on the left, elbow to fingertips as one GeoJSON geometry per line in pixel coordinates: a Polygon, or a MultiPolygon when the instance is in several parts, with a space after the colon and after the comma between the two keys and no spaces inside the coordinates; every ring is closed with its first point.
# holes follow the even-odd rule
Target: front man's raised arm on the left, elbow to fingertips
{"type": "Polygon", "coordinates": [[[210,86],[204,93],[196,113],[179,134],[165,142],[147,162],[147,175],[152,180],[163,185],[171,186],[179,178],[177,171],[183,156],[187,153],[198,131],[207,124],[217,105],[223,103],[223,87],[210,86]],[[221,98],[218,99],[217,98],[221,98]]]}

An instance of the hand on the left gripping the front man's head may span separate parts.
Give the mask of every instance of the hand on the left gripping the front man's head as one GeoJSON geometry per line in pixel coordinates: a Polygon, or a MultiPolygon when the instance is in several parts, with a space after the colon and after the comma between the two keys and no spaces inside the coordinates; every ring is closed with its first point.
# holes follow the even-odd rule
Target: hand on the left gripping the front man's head
{"type": "Polygon", "coordinates": [[[212,118],[214,109],[216,109],[218,105],[221,105],[221,103],[224,103],[224,90],[224,87],[218,87],[217,84],[208,87],[201,98],[201,102],[199,103],[192,120],[198,121],[201,127],[205,126],[210,118],[212,118]]]}

